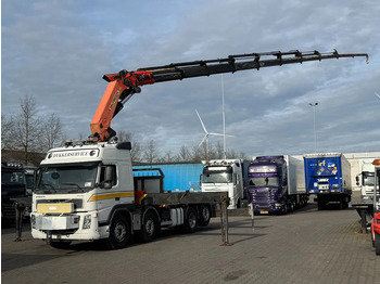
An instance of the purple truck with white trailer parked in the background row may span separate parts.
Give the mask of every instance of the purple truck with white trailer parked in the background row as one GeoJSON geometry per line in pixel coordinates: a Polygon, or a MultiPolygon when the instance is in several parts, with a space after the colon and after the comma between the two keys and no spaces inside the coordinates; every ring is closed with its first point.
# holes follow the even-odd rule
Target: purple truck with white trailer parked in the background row
{"type": "Polygon", "coordinates": [[[299,156],[261,156],[249,166],[249,201],[254,214],[287,214],[307,204],[303,160],[299,156]]]}

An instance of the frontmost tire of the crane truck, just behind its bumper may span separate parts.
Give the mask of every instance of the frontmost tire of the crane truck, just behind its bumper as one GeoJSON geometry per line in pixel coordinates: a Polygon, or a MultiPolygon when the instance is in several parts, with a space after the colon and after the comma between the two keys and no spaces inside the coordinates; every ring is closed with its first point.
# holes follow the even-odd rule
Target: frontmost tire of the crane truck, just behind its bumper
{"type": "Polygon", "coordinates": [[[105,241],[109,249],[119,249],[127,245],[130,236],[130,228],[127,219],[123,215],[116,215],[112,219],[110,237],[105,241]]]}

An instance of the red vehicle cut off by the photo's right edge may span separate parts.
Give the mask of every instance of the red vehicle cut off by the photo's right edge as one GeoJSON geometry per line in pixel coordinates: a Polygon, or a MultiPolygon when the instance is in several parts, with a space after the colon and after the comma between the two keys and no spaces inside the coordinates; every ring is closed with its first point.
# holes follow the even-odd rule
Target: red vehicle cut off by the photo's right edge
{"type": "Polygon", "coordinates": [[[371,238],[376,255],[380,255],[380,159],[373,160],[375,190],[373,190],[373,218],[371,220],[371,238]]]}

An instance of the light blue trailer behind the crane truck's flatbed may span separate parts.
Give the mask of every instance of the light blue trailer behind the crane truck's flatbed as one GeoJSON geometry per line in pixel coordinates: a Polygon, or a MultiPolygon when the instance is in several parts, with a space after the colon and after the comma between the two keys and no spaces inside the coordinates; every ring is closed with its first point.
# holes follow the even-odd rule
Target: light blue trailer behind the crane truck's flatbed
{"type": "MultiPolygon", "coordinates": [[[[202,163],[170,163],[136,165],[134,169],[160,168],[164,176],[165,192],[201,192],[200,175],[203,170],[202,163]]],[[[135,176],[147,176],[149,171],[135,171],[135,176]]]]}

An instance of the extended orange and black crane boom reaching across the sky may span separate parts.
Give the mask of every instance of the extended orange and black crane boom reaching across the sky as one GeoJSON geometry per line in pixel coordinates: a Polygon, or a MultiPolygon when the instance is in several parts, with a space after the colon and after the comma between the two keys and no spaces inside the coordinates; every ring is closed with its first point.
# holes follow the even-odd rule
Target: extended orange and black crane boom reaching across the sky
{"type": "Polygon", "coordinates": [[[169,65],[139,68],[135,72],[121,70],[119,73],[107,74],[103,76],[103,79],[109,82],[109,86],[91,121],[92,137],[98,141],[107,141],[116,134],[111,128],[111,121],[124,104],[135,93],[141,91],[140,86],[238,70],[258,70],[264,67],[292,63],[355,56],[366,56],[368,63],[367,53],[340,54],[337,50],[330,53],[295,50],[229,55],[226,59],[172,63],[169,65]]]}

